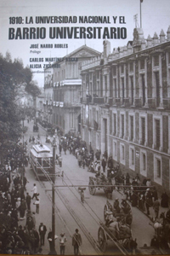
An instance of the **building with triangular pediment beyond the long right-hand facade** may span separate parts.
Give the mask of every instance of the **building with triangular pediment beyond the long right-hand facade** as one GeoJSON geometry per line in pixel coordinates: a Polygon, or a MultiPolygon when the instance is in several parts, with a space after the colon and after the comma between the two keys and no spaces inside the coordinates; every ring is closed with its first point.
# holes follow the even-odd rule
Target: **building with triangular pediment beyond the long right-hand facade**
{"type": "Polygon", "coordinates": [[[83,45],[57,61],[50,78],[46,79],[47,82],[45,80],[45,95],[50,95],[46,98],[46,108],[48,104],[48,113],[51,113],[50,122],[64,133],[81,132],[82,61],[99,55],[98,51],[83,45]]]}

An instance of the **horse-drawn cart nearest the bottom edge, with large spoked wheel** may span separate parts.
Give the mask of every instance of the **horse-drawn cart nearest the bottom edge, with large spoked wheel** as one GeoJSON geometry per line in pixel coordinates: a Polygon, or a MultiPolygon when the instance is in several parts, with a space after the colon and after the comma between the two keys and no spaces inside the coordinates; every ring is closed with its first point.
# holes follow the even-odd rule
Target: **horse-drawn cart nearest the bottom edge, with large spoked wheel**
{"type": "Polygon", "coordinates": [[[122,247],[132,240],[132,230],[127,224],[123,224],[119,231],[115,230],[115,222],[111,224],[102,224],[100,223],[98,230],[98,241],[99,247],[103,253],[105,253],[107,241],[118,241],[122,243],[122,247]]]}

